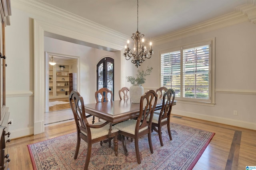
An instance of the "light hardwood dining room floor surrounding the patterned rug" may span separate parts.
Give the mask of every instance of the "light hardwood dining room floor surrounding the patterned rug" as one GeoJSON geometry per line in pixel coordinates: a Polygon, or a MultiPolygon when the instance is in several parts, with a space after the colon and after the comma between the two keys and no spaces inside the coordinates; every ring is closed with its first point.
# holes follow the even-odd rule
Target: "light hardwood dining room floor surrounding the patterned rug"
{"type": "MultiPolygon", "coordinates": [[[[245,170],[246,166],[256,166],[256,131],[176,115],[172,115],[171,121],[215,132],[193,170],[245,170]]],[[[75,131],[75,123],[71,121],[45,127],[45,132],[38,135],[13,139],[6,146],[11,159],[10,170],[33,169],[28,144],[75,131]]]]}

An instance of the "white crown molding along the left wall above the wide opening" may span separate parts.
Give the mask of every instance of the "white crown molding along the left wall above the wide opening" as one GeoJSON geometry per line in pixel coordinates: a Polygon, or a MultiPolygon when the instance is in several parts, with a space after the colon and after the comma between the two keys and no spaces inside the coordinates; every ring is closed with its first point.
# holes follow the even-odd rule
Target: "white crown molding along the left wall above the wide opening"
{"type": "MultiPolygon", "coordinates": [[[[65,29],[70,29],[76,33],[82,33],[86,39],[89,39],[93,44],[98,44],[100,41],[103,47],[106,45],[110,48],[120,50],[124,46],[124,42],[128,39],[118,31],[100,25],[86,18],[72,14],[55,6],[46,4],[38,0],[12,0],[12,7],[27,12],[30,17],[36,20],[43,21],[51,25],[58,25],[65,29]],[[111,45],[112,44],[112,45],[111,45]]],[[[66,35],[64,35],[66,36],[66,35]]],[[[84,41],[84,37],[78,37],[78,40],[84,41]]],[[[86,41],[88,42],[88,41],[86,41]]]]}

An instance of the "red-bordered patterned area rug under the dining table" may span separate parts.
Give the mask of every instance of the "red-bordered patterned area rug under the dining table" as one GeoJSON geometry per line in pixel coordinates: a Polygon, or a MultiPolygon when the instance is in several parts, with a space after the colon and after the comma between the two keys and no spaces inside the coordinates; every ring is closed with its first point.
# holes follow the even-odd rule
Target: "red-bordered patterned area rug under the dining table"
{"type": "MultiPolygon", "coordinates": [[[[162,128],[164,146],[158,134],[152,132],[154,153],[150,153],[148,137],[139,139],[141,164],[137,163],[134,142],[126,140],[128,156],[118,142],[118,156],[108,143],[94,143],[88,169],[90,170],[191,170],[215,133],[171,123],[172,141],[167,127],[162,128]]],[[[83,170],[87,143],[81,140],[78,158],[74,160],[76,133],[28,145],[34,170],[83,170]]]]}

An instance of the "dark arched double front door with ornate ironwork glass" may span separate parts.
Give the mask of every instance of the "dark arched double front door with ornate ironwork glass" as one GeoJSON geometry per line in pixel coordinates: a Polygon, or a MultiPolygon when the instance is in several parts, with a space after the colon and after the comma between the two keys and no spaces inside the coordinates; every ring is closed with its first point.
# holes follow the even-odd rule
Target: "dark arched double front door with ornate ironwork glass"
{"type": "Polygon", "coordinates": [[[97,90],[100,88],[108,88],[114,96],[114,59],[110,57],[97,64],[97,90]]]}

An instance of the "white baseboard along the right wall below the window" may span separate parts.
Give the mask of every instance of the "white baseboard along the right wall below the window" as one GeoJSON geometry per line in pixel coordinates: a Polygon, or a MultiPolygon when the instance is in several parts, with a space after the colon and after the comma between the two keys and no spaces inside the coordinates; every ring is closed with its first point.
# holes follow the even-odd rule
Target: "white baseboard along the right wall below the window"
{"type": "Polygon", "coordinates": [[[231,126],[256,130],[256,123],[252,123],[252,122],[239,121],[239,120],[228,119],[228,118],[224,118],[224,117],[203,115],[203,114],[187,112],[187,111],[179,111],[179,110],[175,110],[175,109],[172,109],[172,114],[186,116],[186,117],[192,117],[195,119],[202,119],[205,121],[212,121],[212,122],[216,122],[216,123],[222,123],[225,125],[231,125],[231,126]]]}

